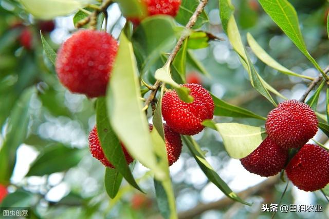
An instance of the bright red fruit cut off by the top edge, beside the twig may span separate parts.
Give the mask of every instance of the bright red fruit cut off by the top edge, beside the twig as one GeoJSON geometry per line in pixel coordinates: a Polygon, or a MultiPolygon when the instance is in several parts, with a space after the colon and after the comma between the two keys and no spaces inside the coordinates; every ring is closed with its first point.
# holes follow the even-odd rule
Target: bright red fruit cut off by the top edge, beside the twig
{"type": "MultiPolygon", "coordinates": [[[[175,17],[178,13],[181,0],[142,0],[142,3],[147,9],[147,16],[165,14],[175,17]]],[[[129,17],[127,18],[134,25],[139,25],[144,17],[129,17]]]]}

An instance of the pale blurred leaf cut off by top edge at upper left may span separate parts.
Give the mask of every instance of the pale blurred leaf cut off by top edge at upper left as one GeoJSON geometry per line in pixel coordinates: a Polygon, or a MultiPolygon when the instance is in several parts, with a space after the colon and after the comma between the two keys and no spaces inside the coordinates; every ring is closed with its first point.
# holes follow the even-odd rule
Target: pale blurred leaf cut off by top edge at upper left
{"type": "Polygon", "coordinates": [[[84,8],[92,1],[84,0],[20,0],[24,8],[33,16],[41,19],[52,19],[68,15],[79,8],[84,8]]]}

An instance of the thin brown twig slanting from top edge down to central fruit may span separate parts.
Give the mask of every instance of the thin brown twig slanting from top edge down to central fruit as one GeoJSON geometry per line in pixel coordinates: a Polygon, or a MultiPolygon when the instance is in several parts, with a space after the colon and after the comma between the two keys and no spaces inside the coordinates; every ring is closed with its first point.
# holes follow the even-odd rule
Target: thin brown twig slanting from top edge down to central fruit
{"type": "MultiPolygon", "coordinates": [[[[192,29],[192,27],[195,25],[195,22],[197,20],[197,17],[202,13],[202,11],[204,10],[204,8],[206,7],[208,3],[208,0],[202,0],[199,5],[197,6],[197,8],[195,9],[193,15],[190,17],[190,20],[189,22],[187,23],[187,25],[185,26],[185,30],[183,31],[183,33],[181,34],[181,36],[179,37],[178,41],[177,41],[177,44],[176,46],[174,47],[174,49],[172,50],[172,52],[170,53],[168,59],[167,59],[167,62],[165,63],[164,66],[166,65],[170,65],[179,49],[181,48],[181,46],[183,45],[185,39],[189,36],[190,34],[190,30],[192,29]]],[[[154,85],[153,85],[153,89],[150,96],[147,98],[147,101],[145,102],[145,105],[144,105],[144,108],[143,110],[147,110],[149,108],[149,104],[153,101],[159,87],[161,86],[161,81],[157,80],[154,85]]]]}

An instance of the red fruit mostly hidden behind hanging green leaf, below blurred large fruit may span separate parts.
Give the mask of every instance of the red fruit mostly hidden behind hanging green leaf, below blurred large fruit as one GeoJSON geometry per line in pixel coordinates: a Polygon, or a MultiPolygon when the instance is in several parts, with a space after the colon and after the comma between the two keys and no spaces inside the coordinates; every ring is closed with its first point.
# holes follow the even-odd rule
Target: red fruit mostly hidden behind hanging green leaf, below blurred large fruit
{"type": "MultiPolygon", "coordinates": [[[[93,128],[92,131],[90,131],[88,141],[89,141],[89,149],[93,157],[95,157],[97,160],[102,162],[104,166],[109,168],[114,168],[114,166],[111,163],[109,163],[107,158],[105,157],[103,149],[99,143],[96,126],[93,128]]],[[[130,154],[127,152],[127,150],[124,148],[122,144],[121,147],[125,156],[125,160],[127,161],[127,164],[132,163],[134,159],[130,156],[130,154]]]]}

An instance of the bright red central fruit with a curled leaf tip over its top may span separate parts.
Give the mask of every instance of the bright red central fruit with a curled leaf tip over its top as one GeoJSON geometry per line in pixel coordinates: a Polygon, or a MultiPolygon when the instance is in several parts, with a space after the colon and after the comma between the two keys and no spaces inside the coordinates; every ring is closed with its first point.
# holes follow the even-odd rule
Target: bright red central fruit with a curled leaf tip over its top
{"type": "Polygon", "coordinates": [[[197,84],[185,84],[193,96],[192,103],[181,101],[176,91],[168,91],[162,98],[162,116],[167,125],[179,134],[194,135],[204,129],[201,124],[214,115],[214,102],[210,93],[197,84]]]}

